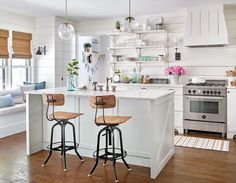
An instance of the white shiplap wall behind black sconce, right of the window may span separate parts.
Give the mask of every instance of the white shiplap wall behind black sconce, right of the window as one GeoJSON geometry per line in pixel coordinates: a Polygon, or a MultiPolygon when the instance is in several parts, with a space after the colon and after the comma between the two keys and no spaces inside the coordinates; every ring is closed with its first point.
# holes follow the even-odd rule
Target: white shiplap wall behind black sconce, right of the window
{"type": "Polygon", "coordinates": [[[46,55],[36,56],[36,78],[47,81],[47,87],[66,85],[66,64],[75,58],[75,38],[64,41],[57,34],[63,22],[54,16],[36,18],[36,45],[47,46],[46,55]]]}

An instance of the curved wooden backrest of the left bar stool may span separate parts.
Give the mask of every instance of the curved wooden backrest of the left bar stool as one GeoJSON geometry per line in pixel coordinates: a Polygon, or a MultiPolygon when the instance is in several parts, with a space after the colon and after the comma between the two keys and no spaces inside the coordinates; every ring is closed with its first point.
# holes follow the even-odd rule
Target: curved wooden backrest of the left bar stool
{"type": "Polygon", "coordinates": [[[63,94],[43,94],[43,103],[51,106],[62,106],[65,104],[65,97],[63,94]]]}

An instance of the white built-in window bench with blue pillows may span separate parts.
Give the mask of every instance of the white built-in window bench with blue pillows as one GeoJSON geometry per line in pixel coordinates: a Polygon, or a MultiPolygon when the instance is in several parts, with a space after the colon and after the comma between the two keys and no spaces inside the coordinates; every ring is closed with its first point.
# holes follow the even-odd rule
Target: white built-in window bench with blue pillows
{"type": "Polygon", "coordinates": [[[45,89],[46,82],[26,83],[17,89],[0,91],[0,138],[25,131],[25,91],[45,89]]]}

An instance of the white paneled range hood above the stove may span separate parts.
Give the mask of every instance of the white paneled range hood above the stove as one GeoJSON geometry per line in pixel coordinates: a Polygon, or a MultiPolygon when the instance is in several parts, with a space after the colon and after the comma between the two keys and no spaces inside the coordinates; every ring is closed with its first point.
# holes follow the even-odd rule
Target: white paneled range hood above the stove
{"type": "Polygon", "coordinates": [[[224,6],[211,5],[187,9],[184,45],[188,47],[228,45],[224,6]]]}

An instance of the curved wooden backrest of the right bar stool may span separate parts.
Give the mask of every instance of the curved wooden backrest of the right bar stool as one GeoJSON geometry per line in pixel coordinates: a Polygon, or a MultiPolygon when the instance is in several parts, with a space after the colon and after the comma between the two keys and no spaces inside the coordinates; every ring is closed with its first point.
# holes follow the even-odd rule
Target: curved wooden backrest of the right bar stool
{"type": "Polygon", "coordinates": [[[92,108],[109,109],[116,106],[115,95],[91,96],[89,97],[89,104],[92,108]]]}

